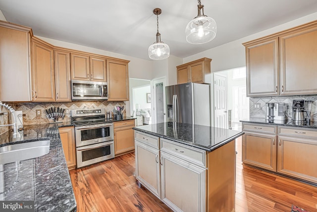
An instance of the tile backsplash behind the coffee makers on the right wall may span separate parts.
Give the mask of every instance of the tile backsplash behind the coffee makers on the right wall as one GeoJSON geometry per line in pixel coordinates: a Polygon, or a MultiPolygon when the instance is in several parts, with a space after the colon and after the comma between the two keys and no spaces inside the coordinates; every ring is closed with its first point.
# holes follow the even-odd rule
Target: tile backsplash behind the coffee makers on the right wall
{"type": "Polygon", "coordinates": [[[286,103],[286,107],[288,107],[286,119],[291,120],[293,115],[293,100],[295,99],[312,101],[311,122],[317,122],[317,95],[250,97],[250,118],[266,118],[266,103],[272,102],[286,103]]]}

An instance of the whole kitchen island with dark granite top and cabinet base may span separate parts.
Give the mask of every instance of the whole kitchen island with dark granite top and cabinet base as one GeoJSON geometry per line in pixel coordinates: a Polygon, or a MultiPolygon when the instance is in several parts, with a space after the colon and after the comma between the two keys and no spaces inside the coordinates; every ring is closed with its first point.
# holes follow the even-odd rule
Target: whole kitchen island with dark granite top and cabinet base
{"type": "Polygon", "coordinates": [[[171,122],[133,129],[140,186],[176,212],[234,211],[234,141],[243,132],[171,122]]]}

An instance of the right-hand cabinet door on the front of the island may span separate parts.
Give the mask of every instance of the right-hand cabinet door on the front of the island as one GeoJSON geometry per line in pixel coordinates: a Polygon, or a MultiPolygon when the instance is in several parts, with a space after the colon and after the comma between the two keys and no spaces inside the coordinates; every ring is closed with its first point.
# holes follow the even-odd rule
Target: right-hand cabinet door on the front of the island
{"type": "Polygon", "coordinates": [[[173,211],[205,212],[206,170],[160,151],[161,200],[173,211]]]}

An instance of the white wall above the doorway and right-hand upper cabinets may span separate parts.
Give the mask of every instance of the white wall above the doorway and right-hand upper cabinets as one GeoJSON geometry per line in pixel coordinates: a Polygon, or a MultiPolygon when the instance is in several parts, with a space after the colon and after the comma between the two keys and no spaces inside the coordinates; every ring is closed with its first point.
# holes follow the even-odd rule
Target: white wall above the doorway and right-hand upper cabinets
{"type": "MultiPolygon", "coordinates": [[[[211,71],[223,71],[246,66],[245,62],[245,47],[242,45],[244,42],[255,40],[276,32],[280,32],[304,23],[317,20],[317,12],[301,17],[299,19],[278,25],[276,27],[264,30],[262,32],[241,38],[239,40],[226,43],[224,45],[206,50],[196,55],[184,58],[184,63],[188,63],[203,57],[211,58],[211,71]]],[[[212,42],[212,41],[211,41],[212,42]]]]}

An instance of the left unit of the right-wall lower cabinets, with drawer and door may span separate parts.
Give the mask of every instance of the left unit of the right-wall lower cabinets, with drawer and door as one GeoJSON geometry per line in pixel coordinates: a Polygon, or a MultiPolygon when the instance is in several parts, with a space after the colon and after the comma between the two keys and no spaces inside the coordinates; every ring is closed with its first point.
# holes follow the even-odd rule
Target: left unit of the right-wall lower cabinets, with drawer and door
{"type": "Polygon", "coordinates": [[[276,126],[243,123],[242,130],[243,163],[276,171],[276,126]]]}

